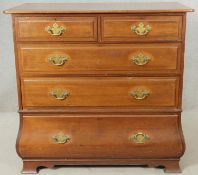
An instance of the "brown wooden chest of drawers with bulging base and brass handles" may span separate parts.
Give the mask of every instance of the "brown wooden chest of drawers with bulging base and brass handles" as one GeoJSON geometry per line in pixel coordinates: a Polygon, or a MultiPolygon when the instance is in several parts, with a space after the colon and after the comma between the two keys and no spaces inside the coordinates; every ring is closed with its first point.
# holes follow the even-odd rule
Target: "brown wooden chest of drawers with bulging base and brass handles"
{"type": "Polygon", "coordinates": [[[186,12],[177,3],[24,4],[12,14],[23,173],[179,172],[186,12]]]}

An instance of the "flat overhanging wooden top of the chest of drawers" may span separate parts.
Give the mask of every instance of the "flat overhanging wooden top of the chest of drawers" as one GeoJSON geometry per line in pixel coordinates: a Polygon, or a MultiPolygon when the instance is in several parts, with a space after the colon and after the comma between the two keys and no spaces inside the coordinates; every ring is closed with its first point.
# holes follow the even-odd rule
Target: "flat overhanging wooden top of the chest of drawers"
{"type": "Polygon", "coordinates": [[[5,10],[13,14],[71,14],[71,13],[171,13],[191,12],[193,9],[176,2],[159,3],[25,3],[5,10]]]}

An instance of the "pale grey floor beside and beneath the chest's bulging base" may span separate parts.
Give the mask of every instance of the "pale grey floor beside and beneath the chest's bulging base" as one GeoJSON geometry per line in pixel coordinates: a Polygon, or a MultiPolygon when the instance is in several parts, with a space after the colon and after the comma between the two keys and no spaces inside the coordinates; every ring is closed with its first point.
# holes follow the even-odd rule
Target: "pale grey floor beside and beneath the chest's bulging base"
{"type": "MultiPolygon", "coordinates": [[[[198,111],[183,112],[182,123],[186,152],[181,160],[182,175],[198,172],[198,111]]],[[[17,113],[0,113],[0,170],[1,175],[20,175],[22,161],[15,151],[18,131],[17,113]]],[[[42,169],[39,175],[164,175],[162,169],[145,167],[61,167],[42,169]]],[[[174,174],[173,174],[174,175],[174,174]]]]}

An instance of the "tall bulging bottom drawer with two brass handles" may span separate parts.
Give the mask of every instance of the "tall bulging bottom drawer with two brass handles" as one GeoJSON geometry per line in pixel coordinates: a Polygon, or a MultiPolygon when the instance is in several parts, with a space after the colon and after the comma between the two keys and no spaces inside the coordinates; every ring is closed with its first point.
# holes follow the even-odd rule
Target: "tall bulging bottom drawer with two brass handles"
{"type": "Polygon", "coordinates": [[[23,116],[23,158],[174,158],[184,147],[177,115],[23,116]]]}

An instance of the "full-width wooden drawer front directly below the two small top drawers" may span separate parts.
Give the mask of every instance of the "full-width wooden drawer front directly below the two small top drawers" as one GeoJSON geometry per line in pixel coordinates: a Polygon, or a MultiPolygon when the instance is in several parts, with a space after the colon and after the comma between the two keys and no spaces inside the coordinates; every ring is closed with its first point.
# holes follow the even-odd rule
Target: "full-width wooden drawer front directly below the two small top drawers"
{"type": "Polygon", "coordinates": [[[22,72],[46,74],[176,72],[180,44],[19,44],[22,72]]]}

